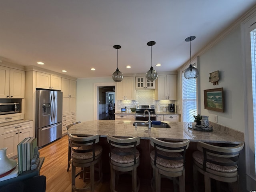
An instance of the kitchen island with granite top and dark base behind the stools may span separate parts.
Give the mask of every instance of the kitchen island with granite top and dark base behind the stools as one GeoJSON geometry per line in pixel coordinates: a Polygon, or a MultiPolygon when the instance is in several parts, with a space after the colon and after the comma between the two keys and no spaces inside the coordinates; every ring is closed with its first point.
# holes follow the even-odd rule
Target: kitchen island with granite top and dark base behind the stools
{"type": "MultiPolygon", "coordinates": [[[[140,178],[141,184],[146,186],[150,186],[152,178],[150,152],[153,150],[153,147],[150,145],[150,137],[170,141],[188,139],[190,140],[190,144],[189,148],[186,150],[186,191],[193,190],[192,153],[197,150],[196,146],[198,141],[215,143],[216,145],[229,145],[244,142],[243,133],[236,132],[235,130],[228,130],[228,128],[224,128],[225,131],[223,131],[215,124],[212,131],[198,131],[188,128],[187,122],[167,122],[170,124],[170,128],[152,127],[151,129],[148,129],[146,126],[135,127],[132,125],[134,122],[135,121],[130,120],[92,120],[71,126],[68,129],[68,133],[75,135],[98,134],[100,136],[99,144],[103,148],[103,174],[107,179],[110,178],[110,165],[109,144],[106,135],[109,134],[120,137],[139,136],[141,140],[140,145],[137,146],[137,148],[140,151],[140,165],[138,166],[137,175],[140,178]]],[[[242,158],[241,155],[240,158],[242,158]]],[[[169,183],[167,184],[169,185],[169,183]]]]}

